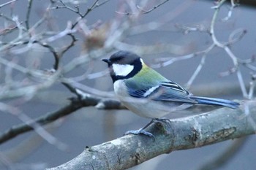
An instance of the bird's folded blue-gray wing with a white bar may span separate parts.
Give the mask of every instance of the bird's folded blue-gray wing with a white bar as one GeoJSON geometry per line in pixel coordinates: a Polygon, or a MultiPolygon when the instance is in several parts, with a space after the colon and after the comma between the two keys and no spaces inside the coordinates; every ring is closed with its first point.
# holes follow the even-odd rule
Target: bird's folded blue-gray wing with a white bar
{"type": "Polygon", "coordinates": [[[149,98],[154,101],[179,101],[184,103],[197,104],[195,99],[190,98],[192,96],[184,88],[175,82],[162,82],[154,87],[143,86],[142,89],[132,88],[127,86],[130,96],[135,98],[149,98]]]}

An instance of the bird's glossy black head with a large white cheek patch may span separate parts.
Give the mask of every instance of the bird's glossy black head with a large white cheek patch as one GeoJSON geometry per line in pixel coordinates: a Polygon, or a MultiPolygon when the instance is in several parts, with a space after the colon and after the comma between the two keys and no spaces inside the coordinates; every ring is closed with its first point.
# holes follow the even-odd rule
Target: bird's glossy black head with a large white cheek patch
{"type": "Polygon", "coordinates": [[[102,59],[102,61],[108,63],[113,82],[129,79],[140,72],[143,67],[143,60],[135,53],[128,51],[118,51],[109,59],[102,59]]]}

